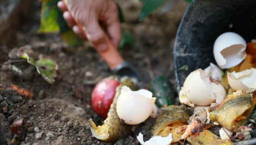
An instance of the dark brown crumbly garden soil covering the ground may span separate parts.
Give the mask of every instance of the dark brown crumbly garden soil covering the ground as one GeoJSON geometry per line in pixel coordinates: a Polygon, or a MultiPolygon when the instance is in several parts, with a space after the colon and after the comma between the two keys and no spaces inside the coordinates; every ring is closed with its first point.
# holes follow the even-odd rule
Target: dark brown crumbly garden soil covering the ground
{"type": "MultiPolygon", "coordinates": [[[[120,49],[123,57],[138,69],[147,82],[164,74],[176,88],[172,49],[188,4],[180,1],[173,10],[154,13],[139,22],[138,12],[134,10],[141,7],[137,0],[129,3],[120,0],[119,3],[126,8],[123,13],[131,16],[126,16],[127,22],[122,24],[122,28],[129,30],[136,40],[133,46],[120,49]]],[[[40,3],[33,2],[31,7],[33,15],[27,15],[16,32],[17,39],[0,46],[0,145],[7,142],[12,145],[139,145],[136,139],[139,132],[144,135],[144,140],[148,140],[154,118],[134,126],[133,132],[115,142],[102,142],[92,136],[88,119],[92,118],[98,125],[103,123],[103,119],[90,107],[91,92],[97,81],[112,73],[89,43],[67,52],[68,47],[58,34],[37,34],[40,3]],[[58,63],[54,84],[48,84],[26,61],[10,55],[16,54],[21,47],[32,49],[40,58],[51,58],[58,63]],[[14,73],[12,65],[21,69],[23,74],[14,73]],[[9,89],[10,84],[33,92],[33,98],[9,89]],[[10,126],[19,119],[23,119],[19,137],[13,138],[10,126]]]]}

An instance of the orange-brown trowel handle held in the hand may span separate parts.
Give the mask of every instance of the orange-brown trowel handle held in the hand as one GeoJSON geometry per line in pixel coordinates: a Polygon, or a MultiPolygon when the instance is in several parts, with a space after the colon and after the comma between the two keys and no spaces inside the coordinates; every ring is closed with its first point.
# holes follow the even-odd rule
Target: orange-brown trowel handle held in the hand
{"type": "MultiPolygon", "coordinates": [[[[64,0],[63,2],[66,5],[67,0],[64,0]]],[[[67,5],[66,5],[66,7],[67,7],[67,5]]],[[[84,31],[83,26],[80,23],[76,22],[76,24],[80,28],[80,30],[84,31]]],[[[110,41],[109,38],[108,38],[107,42],[108,42],[108,48],[105,51],[97,50],[97,52],[101,55],[101,57],[104,59],[104,61],[108,64],[110,69],[114,70],[118,65],[122,64],[124,59],[122,58],[120,53],[117,51],[117,49],[114,47],[114,45],[112,44],[112,42],[110,41]]]]}

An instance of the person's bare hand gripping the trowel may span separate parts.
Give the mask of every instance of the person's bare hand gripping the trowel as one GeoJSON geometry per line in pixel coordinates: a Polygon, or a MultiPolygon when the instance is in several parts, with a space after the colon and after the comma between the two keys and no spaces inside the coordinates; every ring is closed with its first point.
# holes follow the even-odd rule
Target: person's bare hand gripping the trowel
{"type": "Polygon", "coordinates": [[[108,48],[108,37],[115,48],[121,40],[118,8],[113,0],[62,0],[58,7],[79,37],[88,39],[98,51],[108,48]],[[106,27],[106,32],[100,23],[106,27]]]}

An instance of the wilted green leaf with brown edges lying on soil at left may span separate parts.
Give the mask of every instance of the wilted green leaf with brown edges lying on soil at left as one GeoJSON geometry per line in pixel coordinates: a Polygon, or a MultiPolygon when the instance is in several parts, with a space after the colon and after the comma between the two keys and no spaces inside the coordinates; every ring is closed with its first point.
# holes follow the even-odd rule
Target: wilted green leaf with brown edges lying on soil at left
{"type": "MultiPolygon", "coordinates": [[[[27,53],[19,54],[20,58],[27,59],[28,63],[36,67],[37,72],[42,75],[44,80],[53,84],[57,77],[58,65],[51,59],[39,59],[34,61],[27,53]]],[[[15,68],[14,68],[15,69],[15,68]]]]}

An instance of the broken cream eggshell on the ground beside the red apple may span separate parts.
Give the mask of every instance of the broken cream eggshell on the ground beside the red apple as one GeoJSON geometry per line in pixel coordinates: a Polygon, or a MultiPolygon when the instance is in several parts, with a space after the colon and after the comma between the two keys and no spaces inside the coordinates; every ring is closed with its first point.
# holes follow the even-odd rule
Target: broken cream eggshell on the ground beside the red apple
{"type": "Polygon", "coordinates": [[[123,86],[118,97],[116,111],[126,124],[135,125],[144,122],[153,112],[156,98],[148,90],[132,91],[123,86]]]}

